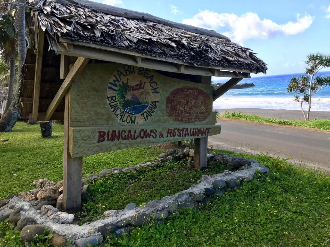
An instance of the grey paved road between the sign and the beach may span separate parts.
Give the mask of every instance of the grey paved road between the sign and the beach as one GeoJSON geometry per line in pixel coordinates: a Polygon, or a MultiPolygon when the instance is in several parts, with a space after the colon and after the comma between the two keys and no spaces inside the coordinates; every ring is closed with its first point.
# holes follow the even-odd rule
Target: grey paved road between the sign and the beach
{"type": "Polygon", "coordinates": [[[217,122],[221,124],[221,134],[210,136],[209,146],[236,152],[263,152],[330,170],[330,133],[231,120],[217,122]]]}

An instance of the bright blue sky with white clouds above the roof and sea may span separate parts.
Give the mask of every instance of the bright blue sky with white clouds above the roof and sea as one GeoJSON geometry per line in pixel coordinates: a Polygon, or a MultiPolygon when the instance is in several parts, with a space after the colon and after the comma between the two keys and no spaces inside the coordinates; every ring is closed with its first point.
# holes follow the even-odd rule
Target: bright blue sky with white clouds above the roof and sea
{"type": "Polygon", "coordinates": [[[215,30],[258,53],[267,75],[304,72],[307,54],[330,54],[329,0],[96,2],[215,30]]]}

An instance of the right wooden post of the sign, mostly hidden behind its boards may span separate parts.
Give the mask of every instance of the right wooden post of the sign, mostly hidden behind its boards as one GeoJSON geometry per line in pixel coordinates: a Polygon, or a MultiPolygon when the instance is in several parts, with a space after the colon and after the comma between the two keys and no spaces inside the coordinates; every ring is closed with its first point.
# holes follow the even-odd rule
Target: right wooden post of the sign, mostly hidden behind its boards
{"type": "MultiPolygon", "coordinates": [[[[211,85],[211,76],[201,76],[201,83],[211,85]]],[[[207,136],[194,139],[194,167],[207,167],[207,136]]]]}

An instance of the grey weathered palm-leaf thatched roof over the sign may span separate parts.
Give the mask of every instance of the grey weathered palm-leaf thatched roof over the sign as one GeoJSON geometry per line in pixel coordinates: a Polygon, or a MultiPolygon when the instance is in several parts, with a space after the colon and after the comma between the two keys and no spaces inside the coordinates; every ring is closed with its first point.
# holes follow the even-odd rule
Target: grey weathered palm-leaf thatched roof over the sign
{"type": "Polygon", "coordinates": [[[36,0],[31,5],[42,29],[48,31],[46,35],[51,46],[62,37],[181,60],[194,66],[244,69],[254,73],[265,73],[267,69],[249,48],[214,31],[166,22],[144,13],[129,15],[128,10],[85,0],[36,0]]]}

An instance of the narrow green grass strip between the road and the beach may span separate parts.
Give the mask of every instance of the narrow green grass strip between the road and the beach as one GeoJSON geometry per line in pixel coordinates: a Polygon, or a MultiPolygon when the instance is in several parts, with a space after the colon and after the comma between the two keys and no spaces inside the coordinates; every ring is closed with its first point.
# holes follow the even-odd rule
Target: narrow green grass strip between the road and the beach
{"type": "Polygon", "coordinates": [[[267,123],[267,124],[280,124],[280,125],[291,125],[305,128],[316,128],[316,129],[326,129],[330,130],[330,120],[322,119],[322,120],[281,120],[274,118],[266,118],[258,115],[250,115],[250,114],[242,114],[242,112],[224,112],[223,114],[217,114],[218,117],[222,118],[232,118],[232,119],[242,119],[252,122],[258,123],[267,123]]]}

